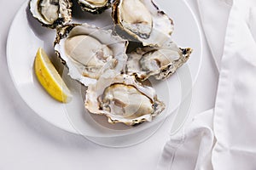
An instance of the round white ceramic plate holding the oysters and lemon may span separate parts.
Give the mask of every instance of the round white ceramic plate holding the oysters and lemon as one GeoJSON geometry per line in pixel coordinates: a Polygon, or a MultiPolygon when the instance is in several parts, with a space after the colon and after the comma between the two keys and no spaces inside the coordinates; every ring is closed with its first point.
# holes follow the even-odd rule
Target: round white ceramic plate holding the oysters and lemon
{"type": "MultiPolygon", "coordinates": [[[[201,33],[194,15],[185,2],[155,0],[155,3],[174,20],[173,39],[175,42],[180,47],[193,48],[194,52],[188,63],[183,65],[177,74],[160,83],[152,82],[159,99],[166,103],[166,110],[154,118],[153,122],[127,127],[121,123],[109,124],[104,116],[91,115],[84,110],[84,88],[71,80],[65,69],[62,77],[73,92],[73,100],[69,104],[61,104],[52,99],[38,83],[33,71],[33,61],[38,48],[43,47],[52,57],[55,66],[61,71],[62,65],[54,55],[55,31],[40,26],[38,21],[32,18],[27,3],[24,3],[15,15],[7,43],[9,72],[21,98],[47,122],[68,132],[83,134],[88,138],[118,138],[157,126],[178,108],[184,96],[191,89],[191,84],[195,82],[201,66],[201,33]]],[[[100,27],[113,24],[110,10],[101,15],[93,15],[81,11],[76,4],[74,9],[73,22],[87,22],[100,27]]],[[[182,122],[183,119],[176,123],[177,126],[182,122]]]]}

